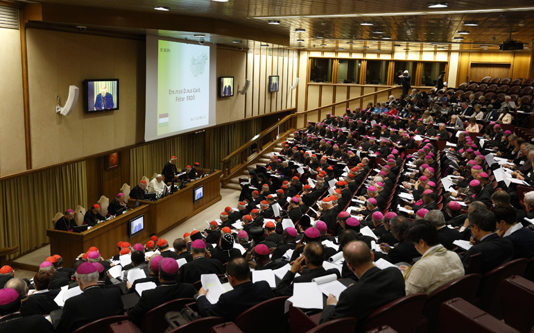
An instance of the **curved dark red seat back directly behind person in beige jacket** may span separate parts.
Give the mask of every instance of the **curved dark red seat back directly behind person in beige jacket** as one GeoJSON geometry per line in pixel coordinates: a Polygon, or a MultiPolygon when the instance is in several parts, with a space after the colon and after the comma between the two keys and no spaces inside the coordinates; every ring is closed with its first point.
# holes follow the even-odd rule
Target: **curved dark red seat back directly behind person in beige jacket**
{"type": "Polygon", "coordinates": [[[463,298],[467,302],[474,302],[480,280],[480,274],[467,274],[432,291],[423,308],[423,316],[429,320],[429,332],[438,330],[441,303],[456,297],[463,298]]]}

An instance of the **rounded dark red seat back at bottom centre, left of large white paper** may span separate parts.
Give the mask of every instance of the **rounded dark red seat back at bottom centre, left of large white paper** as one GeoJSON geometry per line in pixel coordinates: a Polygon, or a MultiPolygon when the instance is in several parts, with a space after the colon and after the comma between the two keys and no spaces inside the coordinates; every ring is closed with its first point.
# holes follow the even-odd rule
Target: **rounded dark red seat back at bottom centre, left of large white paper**
{"type": "Polygon", "coordinates": [[[234,323],[244,333],[285,332],[287,320],[284,317],[284,305],[287,299],[287,296],[283,296],[261,302],[240,314],[234,323]],[[268,321],[265,321],[265,314],[269,314],[268,321]]]}

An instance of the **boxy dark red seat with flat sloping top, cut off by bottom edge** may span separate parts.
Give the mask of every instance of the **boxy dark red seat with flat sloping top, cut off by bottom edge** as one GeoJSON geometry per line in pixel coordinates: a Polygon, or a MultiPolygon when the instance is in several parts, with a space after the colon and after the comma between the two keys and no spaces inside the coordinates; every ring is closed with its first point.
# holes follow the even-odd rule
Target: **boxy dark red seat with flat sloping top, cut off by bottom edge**
{"type": "Polygon", "coordinates": [[[461,298],[453,298],[440,305],[440,331],[441,333],[519,333],[513,327],[461,298]]]}

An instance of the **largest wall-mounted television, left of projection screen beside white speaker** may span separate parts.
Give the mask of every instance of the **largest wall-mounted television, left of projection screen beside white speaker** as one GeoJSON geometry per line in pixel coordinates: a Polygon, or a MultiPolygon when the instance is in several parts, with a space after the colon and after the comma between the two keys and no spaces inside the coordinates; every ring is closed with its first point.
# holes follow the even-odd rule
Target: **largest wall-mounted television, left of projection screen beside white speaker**
{"type": "Polygon", "coordinates": [[[85,113],[119,110],[119,79],[83,80],[83,109],[85,113]]]}

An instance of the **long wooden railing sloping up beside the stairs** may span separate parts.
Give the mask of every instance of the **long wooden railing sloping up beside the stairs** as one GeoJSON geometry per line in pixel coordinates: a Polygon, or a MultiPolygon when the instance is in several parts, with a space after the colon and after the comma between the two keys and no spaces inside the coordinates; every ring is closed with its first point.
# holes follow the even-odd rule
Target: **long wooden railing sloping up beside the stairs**
{"type": "MultiPolygon", "coordinates": [[[[285,139],[296,128],[303,128],[307,122],[307,114],[310,112],[319,111],[317,121],[320,121],[322,119],[322,109],[333,108],[336,105],[358,101],[384,92],[392,92],[394,89],[399,89],[399,87],[388,86],[386,89],[381,89],[377,92],[370,92],[369,94],[353,97],[352,99],[346,99],[344,101],[322,105],[318,108],[313,108],[304,112],[287,115],[274,123],[273,126],[263,130],[255,137],[252,137],[246,144],[243,144],[243,146],[237,148],[233,153],[230,153],[230,155],[227,155],[221,160],[223,163],[223,177],[221,178],[221,184],[223,187],[226,187],[228,182],[230,182],[230,178],[241,174],[248,164],[257,162],[264,153],[267,153],[274,148],[279,141],[281,142],[285,139]],[[298,124],[298,117],[302,115],[304,115],[304,123],[298,124]],[[256,144],[256,151],[251,153],[250,147],[254,144],[256,144]]],[[[332,112],[332,114],[334,114],[334,112],[332,112]]]]}

